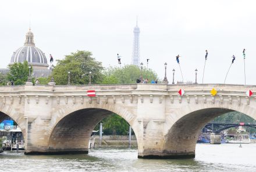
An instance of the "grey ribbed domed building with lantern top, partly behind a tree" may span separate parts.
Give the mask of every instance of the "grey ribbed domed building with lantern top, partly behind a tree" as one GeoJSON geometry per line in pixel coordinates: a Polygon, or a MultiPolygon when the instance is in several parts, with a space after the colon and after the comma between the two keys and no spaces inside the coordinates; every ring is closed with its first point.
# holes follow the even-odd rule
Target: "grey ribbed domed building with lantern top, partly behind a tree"
{"type": "MultiPolygon", "coordinates": [[[[34,34],[30,28],[26,34],[24,46],[19,47],[19,49],[13,52],[9,65],[19,62],[23,63],[25,60],[33,67],[31,76],[34,78],[48,77],[52,72],[51,67],[48,69],[49,65],[45,53],[35,46],[34,34]]],[[[6,74],[9,72],[9,69],[0,69],[0,72],[6,74]]]]}

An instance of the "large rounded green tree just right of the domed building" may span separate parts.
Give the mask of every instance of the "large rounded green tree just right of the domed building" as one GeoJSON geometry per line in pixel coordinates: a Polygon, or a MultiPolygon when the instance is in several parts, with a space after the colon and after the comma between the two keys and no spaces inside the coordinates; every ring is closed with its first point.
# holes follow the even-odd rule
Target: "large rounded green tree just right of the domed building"
{"type": "Polygon", "coordinates": [[[70,83],[75,85],[88,84],[88,74],[92,72],[92,83],[101,83],[103,79],[101,62],[91,57],[92,53],[87,51],[77,51],[65,56],[63,60],[57,60],[58,63],[53,71],[56,85],[66,85],[68,73],[70,71],[70,83]]]}

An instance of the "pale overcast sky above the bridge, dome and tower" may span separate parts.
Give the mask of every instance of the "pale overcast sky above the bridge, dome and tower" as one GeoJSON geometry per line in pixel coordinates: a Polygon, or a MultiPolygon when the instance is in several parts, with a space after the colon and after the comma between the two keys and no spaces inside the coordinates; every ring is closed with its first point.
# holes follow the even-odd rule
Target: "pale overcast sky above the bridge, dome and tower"
{"type": "Polygon", "coordinates": [[[35,46],[47,56],[62,59],[76,50],[88,50],[104,67],[131,63],[133,28],[138,16],[140,58],[163,78],[202,82],[205,49],[208,60],[204,83],[223,83],[232,55],[236,56],[226,83],[244,83],[243,48],[246,48],[247,84],[256,84],[255,1],[1,1],[0,68],[23,46],[25,34],[34,33],[35,46]]]}

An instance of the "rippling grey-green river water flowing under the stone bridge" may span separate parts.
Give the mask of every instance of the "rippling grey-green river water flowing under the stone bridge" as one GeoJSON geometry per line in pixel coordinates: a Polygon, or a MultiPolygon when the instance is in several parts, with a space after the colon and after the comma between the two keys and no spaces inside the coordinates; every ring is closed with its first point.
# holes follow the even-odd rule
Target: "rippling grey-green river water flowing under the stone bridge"
{"type": "Polygon", "coordinates": [[[138,159],[137,149],[91,149],[88,155],[0,153],[0,171],[256,171],[256,144],[197,144],[195,159],[138,159]]]}

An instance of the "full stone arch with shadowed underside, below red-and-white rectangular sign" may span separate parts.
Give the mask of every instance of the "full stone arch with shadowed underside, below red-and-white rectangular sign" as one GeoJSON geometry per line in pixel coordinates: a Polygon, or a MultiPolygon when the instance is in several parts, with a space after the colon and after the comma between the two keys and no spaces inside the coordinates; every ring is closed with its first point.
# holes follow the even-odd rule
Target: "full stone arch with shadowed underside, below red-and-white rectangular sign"
{"type": "MultiPolygon", "coordinates": [[[[106,116],[117,114],[133,128],[138,127],[133,111],[115,104],[78,104],[56,109],[49,125],[49,153],[87,153],[88,141],[95,126],[106,116]]],[[[137,137],[138,139],[138,137],[137,137]]],[[[140,147],[140,145],[138,145],[140,147]]]]}

